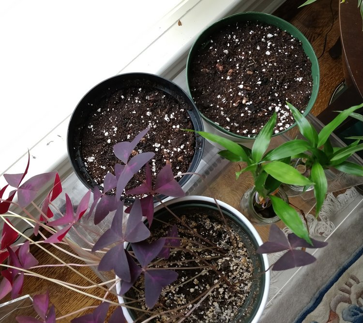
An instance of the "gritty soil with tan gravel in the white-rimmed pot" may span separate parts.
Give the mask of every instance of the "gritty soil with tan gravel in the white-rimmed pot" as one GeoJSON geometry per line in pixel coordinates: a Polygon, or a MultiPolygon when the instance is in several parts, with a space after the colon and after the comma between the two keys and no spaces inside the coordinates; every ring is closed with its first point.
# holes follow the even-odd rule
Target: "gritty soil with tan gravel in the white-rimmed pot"
{"type": "MultiPolygon", "coordinates": [[[[253,267],[250,251],[233,227],[230,232],[226,230],[217,211],[214,216],[219,216],[219,220],[193,211],[181,215],[181,219],[192,231],[184,229],[180,223],[177,223],[179,236],[182,238],[181,247],[171,249],[169,259],[157,261],[157,267],[184,269],[176,270],[179,275],[177,280],[163,290],[158,303],[152,308],[153,314],[163,310],[175,309],[175,311],[160,314],[151,322],[179,322],[181,317],[188,313],[209,290],[201,304],[183,322],[232,322],[237,312],[244,308],[244,314],[239,321],[243,322],[243,317],[250,314],[251,303],[258,292],[258,282],[253,278],[256,269],[253,267]],[[199,238],[197,234],[214,244],[214,249],[200,248],[211,244],[199,238]],[[232,247],[231,236],[236,246],[236,253],[232,247]],[[193,268],[185,269],[185,267],[193,268]],[[219,277],[217,272],[226,280],[219,277]]],[[[169,230],[170,225],[156,230],[157,234],[152,233],[153,239],[166,236],[169,230]]],[[[134,285],[136,289],[128,292],[126,297],[143,299],[143,284],[144,278],[141,276],[134,285]]],[[[138,306],[147,309],[144,303],[138,306]]]]}

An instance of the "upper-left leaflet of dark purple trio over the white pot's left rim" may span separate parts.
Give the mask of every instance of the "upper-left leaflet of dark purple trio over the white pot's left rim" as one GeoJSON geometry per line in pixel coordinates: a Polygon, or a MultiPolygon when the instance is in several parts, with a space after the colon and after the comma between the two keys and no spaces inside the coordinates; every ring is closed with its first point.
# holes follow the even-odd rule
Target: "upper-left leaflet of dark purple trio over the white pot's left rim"
{"type": "Polygon", "coordinates": [[[122,221],[123,221],[123,201],[118,202],[118,207],[113,216],[111,227],[105,231],[103,235],[92,247],[92,251],[100,250],[106,246],[109,246],[115,242],[123,243],[122,233],[122,221]]]}

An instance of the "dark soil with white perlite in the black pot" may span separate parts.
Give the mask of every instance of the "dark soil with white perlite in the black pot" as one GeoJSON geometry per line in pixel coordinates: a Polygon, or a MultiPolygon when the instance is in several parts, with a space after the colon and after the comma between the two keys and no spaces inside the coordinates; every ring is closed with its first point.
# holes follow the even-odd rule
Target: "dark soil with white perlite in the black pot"
{"type": "MultiPolygon", "coordinates": [[[[114,173],[116,163],[122,164],[114,155],[113,146],[131,141],[147,127],[151,129],[132,155],[154,152],[150,162],[153,175],[166,163],[171,164],[174,175],[188,170],[195,152],[195,134],[181,130],[193,129],[183,98],[144,84],[117,90],[88,105],[92,113],[81,130],[80,152],[88,173],[98,185],[107,172],[114,173]]],[[[143,170],[126,189],[140,185],[144,179],[143,170]]]]}

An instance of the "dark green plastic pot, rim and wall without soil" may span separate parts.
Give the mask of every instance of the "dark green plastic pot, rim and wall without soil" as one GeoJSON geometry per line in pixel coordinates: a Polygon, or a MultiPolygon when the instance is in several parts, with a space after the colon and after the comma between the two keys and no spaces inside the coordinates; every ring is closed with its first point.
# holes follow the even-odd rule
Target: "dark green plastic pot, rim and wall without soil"
{"type": "MultiPolygon", "coordinates": [[[[197,51],[200,47],[203,46],[207,46],[209,43],[209,37],[210,35],[212,35],[214,32],[219,31],[221,28],[226,27],[227,25],[231,25],[231,24],[235,24],[237,22],[241,23],[244,21],[256,21],[256,22],[260,22],[260,23],[265,23],[265,24],[269,24],[269,25],[273,25],[278,27],[281,30],[287,31],[289,34],[291,34],[293,37],[299,39],[302,43],[302,48],[305,51],[305,54],[307,55],[307,57],[309,58],[312,67],[311,67],[311,75],[313,78],[313,88],[312,88],[312,94],[310,97],[310,100],[308,102],[307,107],[305,108],[303,115],[306,116],[311,108],[313,107],[317,96],[318,96],[318,89],[319,89],[319,65],[318,65],[318,58],[314,52],[313,47],[310,45],[309,41],[306,39],[306,37],[302,34],[301,31],[299,31],[296,27],[294,27],[293,25],[291,25],[290,23],[288,23],[287,21],[276,17],[274,15],[269,15],[269,14],[265,14],[265,13],[259,13],[259,12],[244,12],[241,14],[236,14],[236,15],[231,15],[228,16],[226,18],[223,18],[217,22],[215,22],[214,24],[212,24],[210,27],[208,27],[205,31],[203,31],[199,37],[197,38],[197,40],[194,42],[193,46],[190,49],[189,55],[188,55],[188,60],[186,63],[186,84],[188,87],[188,91],[189,91],[189,95],[192,96],[191,91],[190,91],[190,80],[191,80],[191,76],[190,76],[190,68],[191,68],[191,62],[193,62],[197,51]]],[[[217,130],[217,132],[220,135],[226,135],[227,137],[229,137],[230,139],[240,139],[240,140],[234,140],[234,141],[250,141],[251,139],[254,138],[249,138],[249,137],[244,137],[244,136],[240,136],[237,134],[234,134],[226,129],[224,129],[223,127],[217,125],[216,123],[214,123],[212,120],[208,119],[207,117],[205,117],[199,110],[199,113],[202,115],[204,121],[207,123],[205,123],[205,128],[206,131],[208,131],[208,125],[212,125],[212,127],[214,129],[217,130]]],[[[294,127],[296,125],[296,123],[293,123],[289,128],[280,131],[278,134],[275,134],[273,136],[277,136],[280,135],[284,132],[287,132],[288,130],[290,130],[292,127],[294,127]]],[[[210,128],[211,129],[211,128],[210,128]]]]}

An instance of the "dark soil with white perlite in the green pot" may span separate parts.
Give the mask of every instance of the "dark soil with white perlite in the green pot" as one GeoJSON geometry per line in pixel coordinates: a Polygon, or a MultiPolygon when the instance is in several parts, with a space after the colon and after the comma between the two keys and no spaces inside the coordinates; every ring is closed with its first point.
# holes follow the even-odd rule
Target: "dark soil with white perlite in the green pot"
{"type": "Polygon", "coordinates": [[[244,137],[257,136],[277,113],[274,133],[302,113],[312,93],[311,62],[301,42],[275,26],[237,23],[215,32],[190,65],[197,108],[214,123],[244,137]]]}

